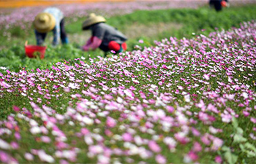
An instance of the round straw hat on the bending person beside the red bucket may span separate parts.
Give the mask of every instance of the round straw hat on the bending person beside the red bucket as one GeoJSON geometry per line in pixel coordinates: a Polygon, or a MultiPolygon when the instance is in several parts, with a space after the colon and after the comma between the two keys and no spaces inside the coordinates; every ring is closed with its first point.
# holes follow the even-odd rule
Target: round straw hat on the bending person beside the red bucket
{"type": "Polygon", "coordinates": [[[34,18],[34,28],[41,33],[53,30],[55,24],[55,17],[47,12],[41,12],[34,18]]]}

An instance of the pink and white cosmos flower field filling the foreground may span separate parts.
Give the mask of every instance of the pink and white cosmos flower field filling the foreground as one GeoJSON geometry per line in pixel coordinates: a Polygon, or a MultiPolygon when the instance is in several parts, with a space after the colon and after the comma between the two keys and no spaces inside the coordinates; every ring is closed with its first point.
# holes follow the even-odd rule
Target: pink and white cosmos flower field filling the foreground
{"type": "Polygon", "coordinates": [[[1,162],[254,163],[255,20],[155,44],[0,73],[1,162]]]}

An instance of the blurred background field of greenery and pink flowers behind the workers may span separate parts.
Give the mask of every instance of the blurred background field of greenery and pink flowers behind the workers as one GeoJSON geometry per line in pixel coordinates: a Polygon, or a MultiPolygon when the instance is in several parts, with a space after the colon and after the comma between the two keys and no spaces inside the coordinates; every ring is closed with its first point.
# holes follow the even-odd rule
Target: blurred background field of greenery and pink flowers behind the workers
{"type": "Polygon", "coordinates": [[[99,50],[83,52],[79,49],[91,36],[91,31],[82,31],[83,21],[91,12],[104,16],[110,26],[128,37],[129,51],[143,50],[170,37],[208,36],[256,19],[256,0],[229,2],[230,7],[217,12],[209,6],[209,0],[0,0],[0,66],[18,71],[23,67],[47,68],[62,59],[84,56],[88,60],[90,56],[103,56],[99,50]],[[48,46],[45,59],[26,58],[25,42],[36,44],[34,17],[49,6],[58,7],[64,13],[70,44],[51,47],[53,34],[49,33],[45,39],[48,46]]]}

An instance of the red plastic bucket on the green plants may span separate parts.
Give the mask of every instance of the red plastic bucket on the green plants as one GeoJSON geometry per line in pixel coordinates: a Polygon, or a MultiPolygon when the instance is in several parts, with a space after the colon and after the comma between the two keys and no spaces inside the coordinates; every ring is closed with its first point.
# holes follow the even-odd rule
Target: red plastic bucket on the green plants
{"type": "Polygon", "coordinates": [[[45,58],[45,46],[36,46],[36,45],[25,45],[26,56],[29,58],[45,58]]]}

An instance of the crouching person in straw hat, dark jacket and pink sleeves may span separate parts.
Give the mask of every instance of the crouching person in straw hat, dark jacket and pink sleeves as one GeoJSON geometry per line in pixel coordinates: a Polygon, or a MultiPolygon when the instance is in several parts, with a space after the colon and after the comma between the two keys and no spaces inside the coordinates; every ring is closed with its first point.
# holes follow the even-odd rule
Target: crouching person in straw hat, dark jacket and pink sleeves
{"type": "Polygon", "coordinates": [[[112,26],[107,25],[104,17],[90,14],[83,23],[83,30],[91,30],[91,38],[83,45],[82,50],[95,50],[99,47],[105,52],[123,52],[127,50],[127,37],[112,26]]]}

